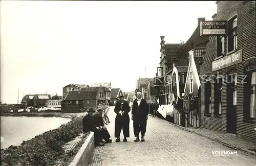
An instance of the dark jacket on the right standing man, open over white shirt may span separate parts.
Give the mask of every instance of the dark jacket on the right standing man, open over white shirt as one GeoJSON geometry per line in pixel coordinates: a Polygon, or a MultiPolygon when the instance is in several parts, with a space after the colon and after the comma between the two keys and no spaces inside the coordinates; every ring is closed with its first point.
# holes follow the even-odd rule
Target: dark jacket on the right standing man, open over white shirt
{"type": "Polygon", "coordinates": [[[141,99],[140,105],[138,105],[137,99],[133,101],[132,114],[134,118],[146,118],[148,111],[148,105],[144,99],[141,99]]]}

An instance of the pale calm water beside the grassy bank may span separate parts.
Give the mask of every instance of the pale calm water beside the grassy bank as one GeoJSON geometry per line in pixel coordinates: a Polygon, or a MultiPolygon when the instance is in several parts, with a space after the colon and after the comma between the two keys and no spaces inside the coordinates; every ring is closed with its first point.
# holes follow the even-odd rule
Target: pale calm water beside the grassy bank
{"type": "Polygon", "coordinates": [[[62,124],[71,121],[69,118],[61,117],[10,117],[1,116],[1,149],[9,146],[18,146],[23,140],[29,140],[36,135],[53,130],[62,124]]]}

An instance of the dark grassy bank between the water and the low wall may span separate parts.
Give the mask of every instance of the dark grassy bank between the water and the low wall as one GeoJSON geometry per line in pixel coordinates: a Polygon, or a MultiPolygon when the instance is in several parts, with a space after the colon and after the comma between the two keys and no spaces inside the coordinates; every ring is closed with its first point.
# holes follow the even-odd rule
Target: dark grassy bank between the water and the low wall
{"type": "MultiPolygon", "coordinates": [[[[57,161],[62,161],[68,165],[80,147],[76,147],[72,153],[65,153],[62,147],[76,138],[79,133],[82,133],[82,117],[76,117],[57,129],[35,136],[20,146],[10,146],[6,150],[1,150],[0,165],[46,166],[55,165],[57,161]]],[[[88,135],[89,133],[84,134],[83,139],[86,139],[88,135]]]]}

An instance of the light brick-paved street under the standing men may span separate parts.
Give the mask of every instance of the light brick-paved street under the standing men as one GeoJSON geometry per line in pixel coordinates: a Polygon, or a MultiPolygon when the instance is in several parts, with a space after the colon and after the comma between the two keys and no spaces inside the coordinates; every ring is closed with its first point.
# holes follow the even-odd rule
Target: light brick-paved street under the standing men
{"type": "MultiPolygon", "coordinates": [[[[148,117],[145,142],[134,142],[133,121],[130,138],[115,143],[115,113],[111,107],[107,126],[113,143],[96,147],[92,165],[256,165],[255,156],[238,151],[238,155],[214,156],[212,151],[234,151],[220,143],[181,130],[151,116],[148,117]]],[[[130,116],[131,117],[131,116],[130,116]]]]}

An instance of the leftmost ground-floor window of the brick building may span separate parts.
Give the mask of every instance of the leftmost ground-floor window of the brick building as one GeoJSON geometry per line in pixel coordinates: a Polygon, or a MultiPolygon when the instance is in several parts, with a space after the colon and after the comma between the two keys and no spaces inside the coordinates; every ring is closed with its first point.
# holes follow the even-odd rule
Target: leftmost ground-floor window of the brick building
{"type": "Polygon", "coordinates": [[[211,83],[207,81],[205,83],[205,114],[211,114],[211,83]]]}

